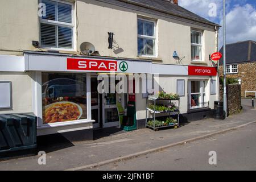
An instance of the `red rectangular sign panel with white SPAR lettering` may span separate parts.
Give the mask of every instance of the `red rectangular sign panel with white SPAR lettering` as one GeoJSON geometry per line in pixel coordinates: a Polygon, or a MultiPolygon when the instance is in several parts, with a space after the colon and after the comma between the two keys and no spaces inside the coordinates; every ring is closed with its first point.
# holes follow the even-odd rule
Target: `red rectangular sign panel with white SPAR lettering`
{"type": "Polygon", "coordinates": [[[93,59],[67,59],[68,70],[86,70],[86,71],[117,71],[117,61],[112,60],[93,60],[93,59]]]}

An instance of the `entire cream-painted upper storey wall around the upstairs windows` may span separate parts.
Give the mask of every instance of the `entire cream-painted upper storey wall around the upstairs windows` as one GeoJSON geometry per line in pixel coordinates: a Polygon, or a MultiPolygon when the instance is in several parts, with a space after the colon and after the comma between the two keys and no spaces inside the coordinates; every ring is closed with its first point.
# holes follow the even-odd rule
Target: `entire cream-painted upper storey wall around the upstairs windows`
{"type": "MultiPolygon", "coordinates": [[[[156,47],[159,56],[153,61],[176,64],[177,60],[172,54],[177,51],[180,57],[185,56],[181,64],[191,64],[190,30],[193,27],[204,30],[203,65],[211,65],[209,54],[216,49],[213,29],[93,0],[77,0],[75,7],[77,30],[75,28],[74,31],[77,31],[77,38],[75,37],[77,49],[68,53],[77,54],[81,43],[90,42],[101,56],[138,58],[137,17],[139,15],[157,22],[156,47]],[[118,50],[108,49],[108,32],[114,32],[114,49],[118,50]]],[[[0,1],[0,54],[22,54],[23,50],[40,51],[32,46],[32,40],[39,40],[38,0],[0,1]]],[[[143,59],[150,58],[143,57],[143,59]]]]}

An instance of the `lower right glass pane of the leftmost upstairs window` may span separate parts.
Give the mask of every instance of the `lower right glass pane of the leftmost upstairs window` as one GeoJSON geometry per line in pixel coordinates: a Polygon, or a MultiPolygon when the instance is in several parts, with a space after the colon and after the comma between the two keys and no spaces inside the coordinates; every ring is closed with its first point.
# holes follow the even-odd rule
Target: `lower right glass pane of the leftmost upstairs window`
{"type": "Polygon", "coordinates": [[[58,46],[72,48],[73,31],[69,27],[58,27],[58,46]]]}

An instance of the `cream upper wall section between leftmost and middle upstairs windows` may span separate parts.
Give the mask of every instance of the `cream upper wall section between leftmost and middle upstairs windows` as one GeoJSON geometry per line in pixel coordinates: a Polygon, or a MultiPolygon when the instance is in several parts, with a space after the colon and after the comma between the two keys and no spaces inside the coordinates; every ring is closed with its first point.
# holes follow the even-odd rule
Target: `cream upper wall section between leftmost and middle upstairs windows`
{"type": "Polygon", "coordinates": [[[79,51],[82,42],[90,42],[101,56],[137,57],[137,14],[105,3],[77,1],[77,17],[79,51]],[[119,46],[123,52],[116,54],[108,49],[108,32],[114,32],[113,46],[119,46]]]}

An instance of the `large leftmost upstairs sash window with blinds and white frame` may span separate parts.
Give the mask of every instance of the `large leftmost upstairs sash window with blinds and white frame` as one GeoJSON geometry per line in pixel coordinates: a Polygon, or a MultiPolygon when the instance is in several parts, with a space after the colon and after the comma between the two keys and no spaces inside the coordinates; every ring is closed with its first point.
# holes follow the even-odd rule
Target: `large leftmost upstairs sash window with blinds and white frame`
{"type": "Polygon", "coordinates": [[[40,17],[40,45],[73,49],[73,4],[50,0],[41,2],[46,12],[40,17]]]}

